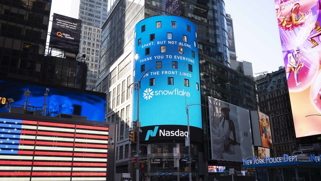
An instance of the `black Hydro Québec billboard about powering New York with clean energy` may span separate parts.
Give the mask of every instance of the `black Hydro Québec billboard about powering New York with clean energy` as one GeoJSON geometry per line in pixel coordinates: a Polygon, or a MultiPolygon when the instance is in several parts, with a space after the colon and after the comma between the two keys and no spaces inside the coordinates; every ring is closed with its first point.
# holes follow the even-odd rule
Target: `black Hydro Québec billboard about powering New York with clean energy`
{"type": "Polygon", "coordinates": [[[81,20],[54,13],[49,47],[78,54],[81,20]]]}

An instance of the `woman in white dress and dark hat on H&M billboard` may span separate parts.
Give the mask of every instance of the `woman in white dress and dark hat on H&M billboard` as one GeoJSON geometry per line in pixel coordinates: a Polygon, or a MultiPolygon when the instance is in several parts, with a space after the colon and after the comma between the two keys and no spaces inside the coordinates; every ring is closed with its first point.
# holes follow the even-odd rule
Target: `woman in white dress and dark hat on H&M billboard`
{"type": "Polygon", "coordinates": [[[230,108],[221,108],[223,115],[220,116],[219,126],[214,129],[213,144],[213,158],[223,159],[222,154],[228,152],[230,145],[236,145],[236,133],[234,122],[230,120],[230,108]],[[229,140],[231,132],[233,133],[233,140],[229,140]]]}

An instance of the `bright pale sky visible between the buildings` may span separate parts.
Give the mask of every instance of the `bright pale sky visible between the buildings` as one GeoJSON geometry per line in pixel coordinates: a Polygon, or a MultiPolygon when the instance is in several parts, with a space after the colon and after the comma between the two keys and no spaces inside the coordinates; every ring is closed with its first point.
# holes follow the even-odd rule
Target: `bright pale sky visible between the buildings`
{"type": "MultiPolygon", "coordinates": [[[[50,15],[72,17],[71,3],[53,0],[50,15]]],[[[273,0],[225,0],[225,11],[233,19],[237,60],[251,62],[254,77],[255,73],[277,71],[284,66],[273,0]]]]}

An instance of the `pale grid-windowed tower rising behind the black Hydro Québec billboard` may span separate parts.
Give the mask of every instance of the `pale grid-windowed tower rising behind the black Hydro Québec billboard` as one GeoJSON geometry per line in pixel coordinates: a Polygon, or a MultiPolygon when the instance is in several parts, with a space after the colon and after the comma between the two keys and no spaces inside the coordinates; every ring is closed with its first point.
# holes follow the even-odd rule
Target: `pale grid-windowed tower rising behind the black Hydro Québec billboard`
{"type": "Polygon", "coordinates": [[[86,89],[92,90],[99,79],[101,26],[107,19],[107,0],[73,0],[72,7],[79,7],[71,14],[82,20],[78,57],[86,54],[86,89]]]}

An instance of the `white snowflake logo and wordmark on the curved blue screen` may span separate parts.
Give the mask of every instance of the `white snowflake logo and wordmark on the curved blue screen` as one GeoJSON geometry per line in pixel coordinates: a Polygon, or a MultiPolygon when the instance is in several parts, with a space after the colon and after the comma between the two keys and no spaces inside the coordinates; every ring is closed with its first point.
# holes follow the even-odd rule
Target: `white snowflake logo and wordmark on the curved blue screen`
{"type": "Polygon", "coordinates": [[[147,88],[144,90],[143,98],[146,100],[150,100],[153,96],[161,96],[161,95],[176,95],[176,96],[191,96],[191,94],[187,91],[174,89],[174,90],[155,90],[153,91],[151,88],[147,88]]]}

